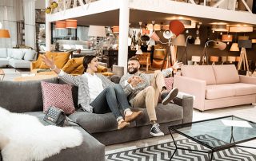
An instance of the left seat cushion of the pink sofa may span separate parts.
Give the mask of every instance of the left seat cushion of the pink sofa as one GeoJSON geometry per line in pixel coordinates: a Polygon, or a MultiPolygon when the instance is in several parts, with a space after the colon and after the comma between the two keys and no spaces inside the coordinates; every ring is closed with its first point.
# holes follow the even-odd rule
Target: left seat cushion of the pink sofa
{"type": "Polygon", "coordinates": [[[228,84],[214,84],[206,86],[206,99],[218,99],[234,96],[234,88],[228,84]]]}

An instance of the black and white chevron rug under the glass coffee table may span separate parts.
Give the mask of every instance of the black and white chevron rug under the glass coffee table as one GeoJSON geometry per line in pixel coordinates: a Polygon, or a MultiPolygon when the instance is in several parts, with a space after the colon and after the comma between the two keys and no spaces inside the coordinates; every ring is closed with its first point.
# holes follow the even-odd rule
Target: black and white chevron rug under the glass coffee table
{"type": "MultiPolygon", "coordinates": [[[[222,141],[210,137],[209,135],[199,135],[199,139],[204,139],[207,142],[211,143],[221,143],[222,141]]],[[[176,142],[178,147],[183,147],[187,149],[209,151],[206,147],[199,145],[198,143],[193,142],[190,139],[181,139],[176,142]]],[[[150,147],[141,147],[129,151],[121,151],[117,153],[112,153],[106,155],[108,161],[114,160],[136,160],[136,161],[161,161],[169,160],[170,156],[174,152],[174,143],[161,143],[158,145],[153,145],[150,147]]],[[[176,151],[172,161],[205,161],[209,160],[208,155],[202,152],[196,151],[176,151]]],[[[214,161],[256,161],[256,155],[251,154],[248,151],[244,151],[241,148],[234,147],[230,150],[214,152],[214,161]]]]}

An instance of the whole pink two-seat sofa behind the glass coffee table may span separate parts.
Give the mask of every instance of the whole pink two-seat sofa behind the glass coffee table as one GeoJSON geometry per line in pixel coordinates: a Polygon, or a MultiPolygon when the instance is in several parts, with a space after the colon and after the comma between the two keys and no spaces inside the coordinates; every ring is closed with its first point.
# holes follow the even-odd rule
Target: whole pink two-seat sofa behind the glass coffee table
{"type": "Polygon", "coordinates": [[[256,77],[238,75],[234,65],[183,65],[174,87],[195,96],[200,111],[256,102],[256,77]]]}

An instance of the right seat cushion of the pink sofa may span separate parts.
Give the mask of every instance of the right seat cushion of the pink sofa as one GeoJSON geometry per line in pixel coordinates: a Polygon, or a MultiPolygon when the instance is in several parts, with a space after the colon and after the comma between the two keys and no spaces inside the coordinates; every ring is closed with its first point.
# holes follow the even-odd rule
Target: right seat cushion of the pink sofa
{"type": "Polygon", "coordinates": [[[234,96],[251,95],[256,93],[255,84],[236,83],[226,85],[234,88],[234,96]]]}

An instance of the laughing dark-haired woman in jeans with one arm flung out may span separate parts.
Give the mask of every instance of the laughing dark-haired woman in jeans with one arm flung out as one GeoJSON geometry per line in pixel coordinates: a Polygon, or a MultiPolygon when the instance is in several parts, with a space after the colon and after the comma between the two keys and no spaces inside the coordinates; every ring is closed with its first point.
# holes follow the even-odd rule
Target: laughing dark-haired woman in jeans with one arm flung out
{"type": "Polygon", "coordinates": [[[114,84],[102,74],[96,74],[98,59],[88,55],[83,59],[83,66],[86,73],[81,76],[71,76],[54,65],[52,59],[42,56],[42,61],[50,67],[58,77],[68,84],[78,86],[78,104],[82,109],[90,113],[112,112],[118,122],[118,130],[130,125],[142,111],[131,112],[130,105],[120,84],[114,84]],[[119,107],[124,111],[123,119],[119,107]]]}

